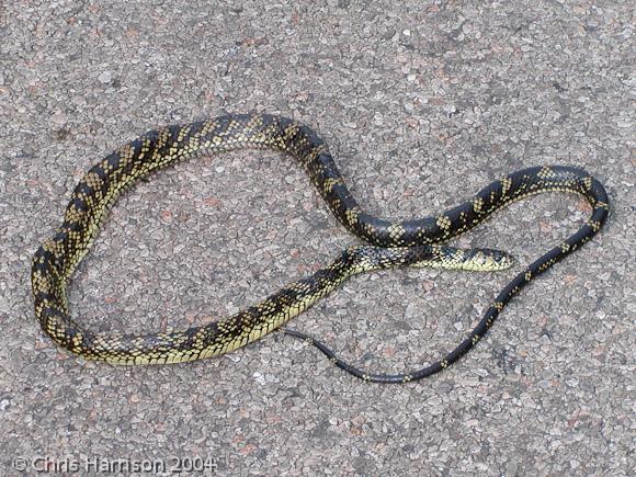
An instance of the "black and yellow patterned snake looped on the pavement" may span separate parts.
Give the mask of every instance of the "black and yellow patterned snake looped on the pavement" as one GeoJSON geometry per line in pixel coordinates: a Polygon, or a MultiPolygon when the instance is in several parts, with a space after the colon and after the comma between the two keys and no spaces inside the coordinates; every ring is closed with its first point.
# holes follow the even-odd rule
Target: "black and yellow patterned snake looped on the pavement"
{"type": "Polygon", "coordinates": [[[315,345],[338,367],[367,382],[407,383],[439,373],[465,355],[488,332],[504,306],[556,262],[578,250],[610,212],[603,185],[570,166],[537,166],[490,183],[461,205],[424,218],[391,222],[366,213],[353,198],[326,143],[307,125],[270,114],[228,114],[150,130],[95,163],[75,188],[59,229],[33,255],[35,316],[59,347],[87,360],[113,364],[190,362],[228,353],[277,330],[315,345]],[[297,280],[234,316],[204,326],[143,334],[94,332],[69,311],[67,288],[118,196],[149,174],[201,155],[255,148],[291,156],[306,171],[337,219],[366,242],[347,247],[327,266],[297,280]],[[525,266],[491,302],[468,336],[421,368],[382,374],[340,359],[322,341],[285,325],[344,281],[363,272],[404,266],[490,272],[513,258],[488,248],[459,249],[444,242],[482,224],[509,204],[544,192],[578,194],[591,215],[572,236],[525,266]]]}

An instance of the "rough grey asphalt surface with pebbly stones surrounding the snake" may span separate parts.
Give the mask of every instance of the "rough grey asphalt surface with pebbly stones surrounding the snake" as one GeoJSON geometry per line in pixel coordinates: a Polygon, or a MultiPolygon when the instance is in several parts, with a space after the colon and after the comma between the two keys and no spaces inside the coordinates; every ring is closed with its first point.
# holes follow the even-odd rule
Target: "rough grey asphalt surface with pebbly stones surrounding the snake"
{"type": "MultiPolygon", "coordinates": [[[[1,474],[628,475],[633,34],[628,1],[0,4],[1,474]],[[30,258],[83,172],[148,129],[249,111],[318,130],[383,217],[439,213],[549,163],[593,173],[612,215],[473,352],[417,384],[365,384],[280,333],[172,366],[58,350],[33,315],[30,258]]],[[[508,250],[514,270],[354,277],[293,326],[368,370],[419,367],[588,213],[559,194],[514,204],[455,240],[508,250]]],[[[292,159],[201,158],[117,203],[69,300],[95,330],[200,325],[357,241],[292,159]]]]}

